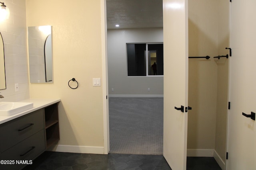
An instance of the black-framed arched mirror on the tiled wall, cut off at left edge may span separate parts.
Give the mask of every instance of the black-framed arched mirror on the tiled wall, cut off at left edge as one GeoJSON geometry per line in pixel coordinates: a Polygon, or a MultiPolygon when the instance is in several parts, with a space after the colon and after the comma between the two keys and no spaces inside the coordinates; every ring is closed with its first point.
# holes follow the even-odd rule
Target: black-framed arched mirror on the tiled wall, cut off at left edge
{"type": "Polygon", "coordinates": [[[4,41],[0,33],[0,90],[6,89],[5,65],[4,65],[4,41]]]}

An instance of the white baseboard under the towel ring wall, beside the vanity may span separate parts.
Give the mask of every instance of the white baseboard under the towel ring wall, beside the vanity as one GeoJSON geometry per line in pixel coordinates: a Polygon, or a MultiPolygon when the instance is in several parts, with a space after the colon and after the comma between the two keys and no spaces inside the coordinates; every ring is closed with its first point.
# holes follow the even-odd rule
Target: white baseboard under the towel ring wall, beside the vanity
{"type": "Polygon", "coordinates": [[[91,153],[104,154],[104,147],[85,147],[72,145],[54,145],[48,149],[55,152],[72,152],[72,153],[91,153]]]}

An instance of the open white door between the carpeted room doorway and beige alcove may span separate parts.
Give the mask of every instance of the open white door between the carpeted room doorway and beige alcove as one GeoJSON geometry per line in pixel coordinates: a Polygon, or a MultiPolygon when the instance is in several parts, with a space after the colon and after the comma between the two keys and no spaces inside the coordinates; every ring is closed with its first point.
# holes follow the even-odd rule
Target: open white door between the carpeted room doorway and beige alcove
{"type": "Polygon", "coordinates": [[[188,0],[163,0],[164,157],[186,170],[188,113],[188,0]],[[184,112],[174,107],[184,106],[184,112]]]}

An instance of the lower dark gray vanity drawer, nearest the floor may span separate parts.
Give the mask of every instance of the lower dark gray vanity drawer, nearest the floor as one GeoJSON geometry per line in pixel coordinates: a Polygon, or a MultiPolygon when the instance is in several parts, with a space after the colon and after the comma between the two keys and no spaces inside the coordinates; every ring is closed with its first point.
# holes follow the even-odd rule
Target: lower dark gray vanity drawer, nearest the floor
{"type": "Polygon", "coordinates": [[[18,143],[14,147],[2,152],[0,160],[14,160],[13,165],[1,165],[0,169],[4,170],[18,170],[24,164],[17,164],[16,160],[27,160],[28,164],[30,160],[33,160],[36,156],[45,151],[44,130],[32,135],[28,139],[18,143]]]}

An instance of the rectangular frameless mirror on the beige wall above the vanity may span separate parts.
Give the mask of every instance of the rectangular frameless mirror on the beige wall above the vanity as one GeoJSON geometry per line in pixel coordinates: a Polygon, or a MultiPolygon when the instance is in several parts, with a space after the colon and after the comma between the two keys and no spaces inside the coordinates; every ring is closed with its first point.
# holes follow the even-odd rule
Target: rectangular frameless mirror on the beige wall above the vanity
{"type": "Polygon", "coordinates": [[[52,78],[52,26],[28,27],[30,83],[49,83],[52,78]]]}

